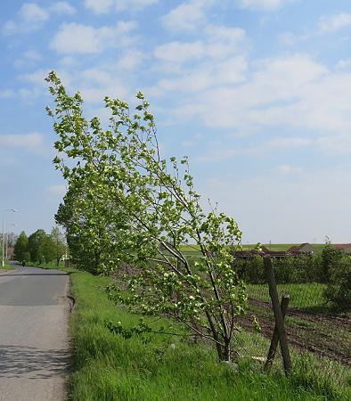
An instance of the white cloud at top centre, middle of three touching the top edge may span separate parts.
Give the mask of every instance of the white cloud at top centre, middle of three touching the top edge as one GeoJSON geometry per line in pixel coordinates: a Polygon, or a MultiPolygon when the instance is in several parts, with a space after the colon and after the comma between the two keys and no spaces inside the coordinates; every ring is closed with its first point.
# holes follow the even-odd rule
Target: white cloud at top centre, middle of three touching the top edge
{"type": "Polygon", "coordinates": [[[206,8],[211,1],[191,0],[179,4],[171,12],[162,17],[162,23],[171,30],[198,29],[207,21],[206,8]]]}

